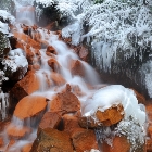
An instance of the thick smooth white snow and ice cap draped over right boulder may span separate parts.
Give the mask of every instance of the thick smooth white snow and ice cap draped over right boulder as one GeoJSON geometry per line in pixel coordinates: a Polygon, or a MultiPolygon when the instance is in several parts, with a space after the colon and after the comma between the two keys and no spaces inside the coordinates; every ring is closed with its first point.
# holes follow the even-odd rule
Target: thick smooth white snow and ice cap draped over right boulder
{"type": "Polygon", "coordinates": [[[142,126],[145,123],[145,112],[140,109],[136,94],[131,89],[127,89],[121,85],[111,85],[98,90],[93,97],[81,103],[81,113],[84,116],[92,116],[99,107],[104,112],[112,105],[123,104],[125,118],[132,116],[142,126]]]}

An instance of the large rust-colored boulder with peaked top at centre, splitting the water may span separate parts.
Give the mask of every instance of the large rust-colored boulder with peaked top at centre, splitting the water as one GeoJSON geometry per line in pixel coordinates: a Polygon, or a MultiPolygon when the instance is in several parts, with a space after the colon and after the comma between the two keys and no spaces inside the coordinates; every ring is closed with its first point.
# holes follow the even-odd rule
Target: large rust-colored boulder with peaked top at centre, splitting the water
{"type": "Polygon", "coordinates": [[[50,103],[50,110],[52,112],[72,113],[77,112],[80,109],[80,102],[78,98],[69,92],[56,93],[50,103]]]}

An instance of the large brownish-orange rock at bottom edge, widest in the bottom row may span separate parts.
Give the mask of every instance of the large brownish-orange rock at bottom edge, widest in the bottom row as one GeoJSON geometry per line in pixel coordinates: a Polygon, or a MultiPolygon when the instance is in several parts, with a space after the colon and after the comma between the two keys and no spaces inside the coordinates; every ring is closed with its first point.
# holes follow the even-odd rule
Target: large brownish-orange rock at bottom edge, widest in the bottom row
{"type": "Polygon", "coordinates": [[[38,132],[30,152],[73,152],[73,145],[68,134],[51,128],[38,132]]]}

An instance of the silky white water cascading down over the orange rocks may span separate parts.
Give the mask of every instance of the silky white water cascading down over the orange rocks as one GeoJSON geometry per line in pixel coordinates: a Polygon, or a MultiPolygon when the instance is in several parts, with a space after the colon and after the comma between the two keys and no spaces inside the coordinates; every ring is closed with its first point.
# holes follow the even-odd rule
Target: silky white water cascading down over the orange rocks
{"type": "MultiPolygon", "coordinates": [[[[35,20],[34,11],[31,11],[31,8],[20,8],[20,10],[22,10],[22,13],[16,13],[16,21],[22,24],[33,25],[35,23],[35,20]]],[[[18,31],[22,31],[22,24],[16,23],[18,31]]],[[[36,71],[36,77],[39,79],[40,88],[30,96],[42,96],[51,100],[55,93],[61,92],[63,89],[65,89],[66,84],[69,84],[72,88],[78,88],[80,93],[78,93],[74,89],[72,90],[83,103],[93,94],[97,88],[102,87],[102,85],[99,85],[101,84],[101,81],[96,71],[86,62],[80,61],[77,54],[74,53],[74,50],[69,49],[65,42],[59,40],[58,35],[43,28],[38,28],[37,33],[40,34],[41,41],[45,41],[46,43],[52,46],[55,49],[56,54],[48,56],[46,54],[47,49],[40,50],[41,62],[37,62],[40,68],[36,71]],[[48,60],[51,59],[53,59],[58,63],[54,65],[54,68],[51,68],[48,65],[48,60]],[[71,66],[74,61],[78,61],[81,64],[84,69],[84,76],[74,75],[72,73],[71,66]],[[62,80],[60,83],[54,83],[54,76],[62,80]]],[[[34,48],[30,48],[30,50],[33,50],[34,52],[34,48]]],[[[35,55],[35,59],[36,58],[37,56],[35,55]]],[[[49,111],[49,109],[47,111],[49,111]]],[[[28,118],[26,121],[22,121],[16,116],[13,116],[10,125],[8,125],[7,129],[1,132],[1,137],[4,139],[4,147],[1,148],[0,151],[21,152],[24,145],[26,145],[27,143],[33,143],[36,138],[38,123],[41,117],[42,113],[35,118],[28,118]],[[15,143],[10,147],[7,130],[8,128],[13,127],[17,128],[18,130],[25,129],[27,127],[30,128],[30,131],[24,138],[15,140],[15,143]]]]}

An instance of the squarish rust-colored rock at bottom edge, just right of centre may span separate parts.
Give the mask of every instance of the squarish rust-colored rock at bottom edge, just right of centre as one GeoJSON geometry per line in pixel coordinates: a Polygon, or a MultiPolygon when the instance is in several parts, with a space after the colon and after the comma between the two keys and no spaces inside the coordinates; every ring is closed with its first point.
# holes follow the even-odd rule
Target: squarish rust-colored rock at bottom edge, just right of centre
{"type": "Polygon", "coordinates": [[[93,130],[75,129],[72,139],[76,152],[90,151],[91,149],[98,150],[98,143],[93,130]]]}

